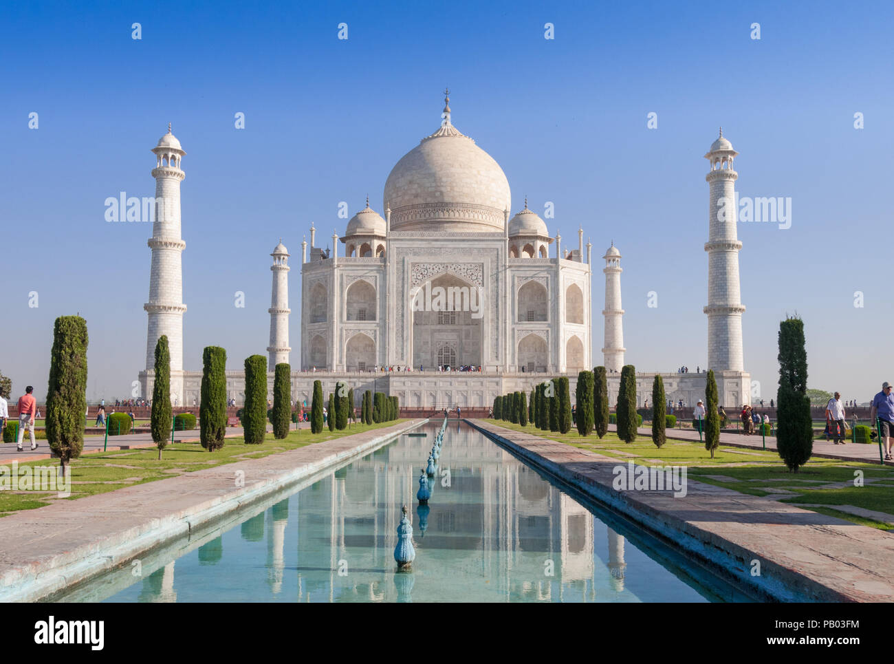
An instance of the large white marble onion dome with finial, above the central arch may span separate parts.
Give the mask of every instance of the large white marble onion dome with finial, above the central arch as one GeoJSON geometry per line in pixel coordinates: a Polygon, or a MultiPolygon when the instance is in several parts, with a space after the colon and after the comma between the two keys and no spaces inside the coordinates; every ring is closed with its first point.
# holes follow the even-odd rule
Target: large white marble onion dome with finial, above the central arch
{"type": "Polygon", "coordinates": [[[502,168],[450,120],[444,121],[392,168],[384,208],[392,231],[502,232],[510,208],[509,181],[502,168]]]}

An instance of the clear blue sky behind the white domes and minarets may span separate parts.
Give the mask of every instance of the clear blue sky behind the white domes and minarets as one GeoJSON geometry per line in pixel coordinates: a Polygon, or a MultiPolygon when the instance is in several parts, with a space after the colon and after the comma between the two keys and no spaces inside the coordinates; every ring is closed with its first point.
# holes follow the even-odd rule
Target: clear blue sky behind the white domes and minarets
{"type": "MultiPolygon", "coordinates": [[[[703,155],[722,125],[740,152],[738,192],[792,200],[788,230],[738,228],[745,363],[763,398],[775,396],[780,319],[796,312],[811,387],[862,401],[894,380],[889,3],[28,3],[2,12],[0,371],[16,396],[29,383],[46,393],[53,320],[75,312],[89,326],[88,396],[130,395],[145,362],[151,226],[106,223],[104,201],[153,195],[149,149],[168,122],[187,151],[184,364],[199,369],[201,349],[223,345],[235,369],[265,353],[278,239],[297,256],[313,222],[331,243],[346,223],[339,201],[353,214],[367,193],[381,212],[392,166],[440,123],[445,85],[453,123],[509,178],[513,211],[526,194],[541,213],[549,200],[547,223],[563,245],[577,244],[580,225],[596,257],[611,240],[619,246],[637,369],[707,360],[703,155]],[[347,40],[337,38],[341,22],[347,40]],[[244,309],[233,306],[236,291],[244,309]],[[657,308],[646,306],[650,291],[657,308]]],[[[601,271],[593,290],[599,360],[601,271]]],[[[294,269],[293,312],[299,293],[294,269]]]]}

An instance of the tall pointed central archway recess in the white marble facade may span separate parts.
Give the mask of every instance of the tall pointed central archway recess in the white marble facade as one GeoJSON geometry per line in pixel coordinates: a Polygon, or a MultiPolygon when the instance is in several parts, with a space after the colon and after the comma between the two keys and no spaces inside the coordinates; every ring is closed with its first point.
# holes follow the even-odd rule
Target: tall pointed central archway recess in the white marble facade
{"type": "Polygon", "coordinates": [[[475,285],[451,274],[422,285],[412,301],[413,366],[480,366],[485,329],[481,300],[475,285]]]}

